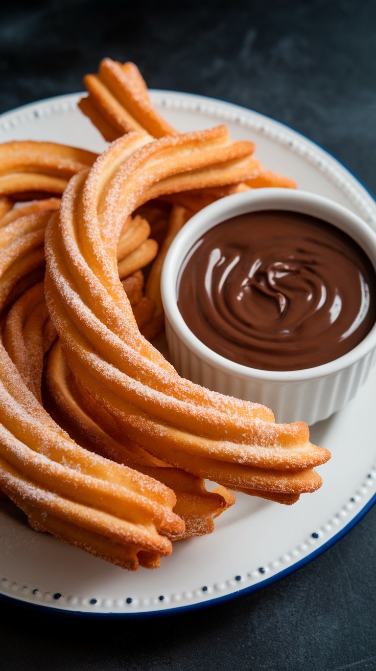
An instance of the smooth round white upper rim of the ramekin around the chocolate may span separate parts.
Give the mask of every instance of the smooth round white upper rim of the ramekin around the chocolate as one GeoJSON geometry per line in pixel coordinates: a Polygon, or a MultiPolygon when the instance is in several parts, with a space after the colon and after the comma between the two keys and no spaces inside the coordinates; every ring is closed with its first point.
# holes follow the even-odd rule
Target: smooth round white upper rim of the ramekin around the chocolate
{"type": "MultiPolygon", "coordinates": [[[[201,361],[210,364],[214,368],[218,368],[222,372],[235,375],[238,378],[249,379],[249,381],[259,382],[304,382],[308,380],[318,380],[324,377],[329,377],[337,374],[341,370],[353,366],[359,362],[369,352],[376,347],[376,323],[373,325],[371,331],[355,348],[346,354],[334,359],[326,364],[314,366],[312,368],[304,368],[302,370],[286,370],[274,371],[263,370],[259,368],[251,368],[250,366],[243,366],[233,362],[221,354],[217,354],[210,350],[208,346],[202,343],[194,333],[188,328],[184,321],[177,304],[177,283],[178,275],[184,258],[187,252],[192,248],[192,245],[200,235],[213,227],[221,221],[225,221],[229,217],[235,216],[247,211],[257,211],[260,209],[290,209],[292,211],[304,212],[304,209],[314,209],[316,215],[322,219],[326,217],[336,218],[342,217],[342,221],[346,221],[350,226],[354,226],[355,234],[349,233],[347,225],[345,225],[346,232],[353,237],[363,247],[367,256],[371,259],[376,272],[376,234],[369,227],[361,217],[353,211],[347,209],[343,205],[339,205],[334,201],[319,196],[307,191],[298,191],[295,189],[280,189],[280,188],[265,188],[255,189],[254,191],[245,191],[227,196],[223,199],[215,201],[204,209],[200,210],[196,215],[188,221],[188,223],[180,230],[175,240],[172,242],[162,270],[161,278],[161,292],[162,302],[166,319],[170,323],[170,327],[180,338],[186,348],[195,354],[201,361]],[[245,205],[249,205],[250,209],[243,209],[245,205]],[[256,207],[252,207],[256,206],[256,207]],[[242,212],[238,212],[238,209],[242,212]],[[320,212],[320,209],[326,211],[326,217],[320,212]],[[207,225],[210,222],[210,225],[207,225]],[[365,249],[367,242],[369,248],[365,249]],[[370,254],[370,251],[373,252],[370,254]]],[[[328,219],[326,219],[328,220],[328,219]]],[[[329,221],[328,223],[332,223],[329,221]]],[[[334,225],[338,225],[338,222],[334,225]]],[[[340,227],[340,225],[338,225],[340,227]]]]}

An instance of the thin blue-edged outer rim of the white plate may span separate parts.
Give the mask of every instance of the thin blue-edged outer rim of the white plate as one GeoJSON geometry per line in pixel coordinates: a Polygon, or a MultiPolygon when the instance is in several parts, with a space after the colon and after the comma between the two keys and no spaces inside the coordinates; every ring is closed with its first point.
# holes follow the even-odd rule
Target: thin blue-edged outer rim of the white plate
{"type": "MultiPolygon", "coordinates": [[[[38,105],[48,105],[48,103],[58,103],[60,101],[68,100],[69,103],[72,105],[73,103],[76,103],[76,100],[84,95],[84,91],[78,91],[76,93],[66,93],[62,95],[56,95],[53,97],[45,98],[45,99],[40,99],[38,101],[33,101],[32,103],[25,103],[25,105],[21,105],[19,107],[16,107],[14,109],[11,109],[9,111],[5,111],[0,114],[0,125],[2,125],[3,121],[7,120],[7,117],[11,117],[11,115],[19,114],[24,111],[32,111],[31,108],[33,107],[38,107],[38,105]]],[[[311,144],[314,148],[318,148],[321,152],[329,156],[342,170],[347,172],[353,180],[357,183],[358,187],[361,187],[365,191],[365,194],[369,197],[369,199],[372,201],[373,208],[375,209],[375,214],[376,214],[376,196],[372,193],[371,189],[367,187],[362,180],[360,180],[357,175],[347,167],[346,164],[344,164],[342,161],[340,161],[334,154],[326,150],[324,147],[322,147],[318,142],[315,142],[308,136],[302,134],[300,131],[294,130],[294,128],[290,127],[286,123],[279,121],[277,119],[273,119],[273,117],[269,117],[267,115],[264,115],[263,113],[260,113],[256,110],[244,107],[242,105],[237,105],[237,103],[230,103],[227,101],[223,101],[222,99],[217,99],[214,97],[209,97],[209,96],[204,96],[204,95],[198,95],[195,93],[184,93],[182,91],[168,91],[167,89],[150,89],[151,96],[174,96],[176,95],[177,98],[181,97],[181,99],[191,99],[199,103],[202,101],[202,103],[212,103],[214,105],[218,105],[220,103],[223,105],[225,108],[232,108],[233,111],[238,111],[239,113],[249,113],[251,112],[253,115],[256,117],[259,117],[260,120],[267,120],[271,122],[273,125],[277,124],[279,127],[282,129],[288,130],[288,132],[291,132],[292,134],[299,136],[304,140],[305,143],[311,144]]],[[[161,105],[161,107],[164,107],[164,105],[161,105]]],[[[165,106],[166,109],[168,109],[168,106],[165,106]]],[[[181,109],[181,108],[176,108],[176,109],[181,109]]],[[[57,110],[59,112],[68,111],[68,110],[57,110]]],[[[197,109],[197,112],[200,113],[200,109],[197,109]]],[[[221,116],[218,115],[218,119],[221,119],[221,116]]],[[[230,119],[235,121],[235,119],[230,119]]],[[[239,119],[238,119],[239,121],[239,119]]],[[[226,123],[226,120],[223,119],[223,123],[226,123]]],[[[370,225],[369,222],[368,225],[370,225]]],[[[25,607],[27,609],[32,609],[32,610],[37,610],[42,613],[51,613],[54,612],[56,615],[64,615],[65,617],[78,617],[78,618],[85,618],[85,619],[153,619],[155,617],[169,617],[171,615],[176,615],[177,613],[187,613],[191,611],[196,611],[198,609],[206,608],[206,607],[211,607],[213,605],[219,605],[224,603],[225,601],[230,601],[232,599],[236,599],[237,597],[242,597],[246,596],[252,592],[258,591],[259,589],[262,589],[269,584],[272,584],[273,582],[277,582],[277,580],[281,580],[282,578],[296,572],[303,566],[306,566],[306,564],[310,563],[312,560],[314,560],[316,557],[320,556],[323,554],[326,550],[328,550],[330,547],[332,547],[338,540],[340,540],[344,535],[347,535],[353,527],[359,523],[363,517],[369,512],[369,510],[375,505],[376,503],[376,494],[374,494],[366,503],[363,505],[363,507],[359,510],[357,515],[355,515],[347,525],[344,525],[342,529],[337,531],[334,535],[332,535],[328,541],[326,541],[324,544],[316,548],[315,550],[312,550],[309,554],[304,556],[302,559],[298,560],[297,562],[294,562],[293,564],[290,564],[290,566],[287,566],[286,568],[283,568],[282,570],[274,573],[272,576],[269,576],[269,578],[263,578],[263,580],[259,582],[255,582],[252,585],[243,587],[241,589],[234,590],[233,592],[227,594],[227,595],[220,595],[218,597],[214,597],[213,599],[207,599],[205,601],[199,601],[198,603],[192,603],[192,604],[186,604],[186,605],[176,605],[172,608],[155,608],[154,610],[150,611],[122,611],[122,612],[113,612],[113,611],[108,611],[108,612],[103,612],[103,611],[88,611],[87,609],[84,610],[74,610],[73,608],[66,607],[66,608],[61,608],[58,607],[58,605],[54,605],[53,603],[50,604],[42,604],[42,603],[36,603],[32,601],[31,599],[23,598],[23,597],[11,597],[3,592],[0,591],[0,600],[4,601],[6,603],[11,603],[12,605],[18,605],[21,607],[25,607]]]]}

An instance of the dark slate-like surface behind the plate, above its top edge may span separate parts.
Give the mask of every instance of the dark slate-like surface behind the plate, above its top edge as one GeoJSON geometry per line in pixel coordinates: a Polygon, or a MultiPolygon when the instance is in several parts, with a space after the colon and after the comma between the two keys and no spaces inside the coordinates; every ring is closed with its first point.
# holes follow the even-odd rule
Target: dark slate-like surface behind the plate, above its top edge
{"type": "Polygon", "coordinates": [[[9,3],[0,15],[0,111],[82,90],[82,74],[105,55],[134,60],[149,87],[211,95],[288,123],[376,191],[375,1],[295,5],[9,3]]]}

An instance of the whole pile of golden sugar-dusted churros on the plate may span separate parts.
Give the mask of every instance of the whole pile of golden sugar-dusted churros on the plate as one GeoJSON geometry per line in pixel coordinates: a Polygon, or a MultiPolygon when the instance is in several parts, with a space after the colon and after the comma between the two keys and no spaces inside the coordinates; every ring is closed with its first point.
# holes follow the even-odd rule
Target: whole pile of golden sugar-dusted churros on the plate
{"type": "Polygon", "coordinates": [[[183,380],[149,342],[186,221],[228,193],[294,183],[225,126],[178,134],[134,64],[107,58],[84,81],[104,154],[0,146],[0,487],[34,529],[155,568],[172,541],[213,531],[230,490],[290,505],[321,484],[330,454],[304,423],[183,380]]]}

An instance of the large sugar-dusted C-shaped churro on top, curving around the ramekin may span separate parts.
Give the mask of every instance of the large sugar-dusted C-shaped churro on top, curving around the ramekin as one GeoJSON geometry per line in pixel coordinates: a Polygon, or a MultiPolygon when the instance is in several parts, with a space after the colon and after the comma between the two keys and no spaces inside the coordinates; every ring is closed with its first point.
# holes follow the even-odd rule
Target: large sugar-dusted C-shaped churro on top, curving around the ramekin
{"type": "Polygon", "coordinates": [[[151,197],[249,176],[253,147],[224,127],[115,142],[73,178],[46,237],[46,299],[74,376],[118,425],[169,464],[224,486],[292,503],[314,491],[330,453],[302,423],[275,425],[269,409],[188,380],[139,333],[117,272],[125,218],[151,197]]]}

